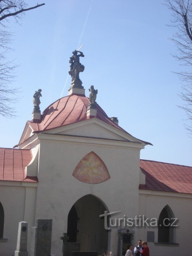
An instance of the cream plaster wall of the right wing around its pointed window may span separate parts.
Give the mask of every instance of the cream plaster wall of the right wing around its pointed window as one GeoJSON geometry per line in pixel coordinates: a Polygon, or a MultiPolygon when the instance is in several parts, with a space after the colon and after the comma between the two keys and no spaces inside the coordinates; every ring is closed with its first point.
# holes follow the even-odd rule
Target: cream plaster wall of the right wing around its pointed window
{"type": "Polygon", "coordinates": [[[167,193],[167,192],[154,192],[145,194],[142,191],[139,196],[139,214],[145,215],[146,218],[159,218],[162,209],[168,205],[175,218],[178,218],[176,224],[178,227],[174,228],[174,243],[178,243],[178,246],[174,245],[160,245],[158,243],[158,227],[138,228],[138,237],[136,240],[147,240],[147,231],[154,231],[154,242],[148,242],[150,248],[150,254],[155,256],[190,256],[192,250],[192,244],[189,242],[191,236],[191,215],[192,212],[192,196],[179,194],[179,193],[167,193]],[[188,197],[188,198],[186,198],[188,197]]]}

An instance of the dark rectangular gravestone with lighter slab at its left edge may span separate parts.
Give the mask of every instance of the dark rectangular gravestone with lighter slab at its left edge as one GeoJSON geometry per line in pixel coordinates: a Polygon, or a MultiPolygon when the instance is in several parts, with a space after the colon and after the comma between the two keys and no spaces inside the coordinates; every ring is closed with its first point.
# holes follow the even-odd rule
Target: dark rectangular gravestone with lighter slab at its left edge
{"type": "Polygon", "coordinates": [[[36,219],[32,227],[30,256],[51,255],[52,220],[36,219]]]}

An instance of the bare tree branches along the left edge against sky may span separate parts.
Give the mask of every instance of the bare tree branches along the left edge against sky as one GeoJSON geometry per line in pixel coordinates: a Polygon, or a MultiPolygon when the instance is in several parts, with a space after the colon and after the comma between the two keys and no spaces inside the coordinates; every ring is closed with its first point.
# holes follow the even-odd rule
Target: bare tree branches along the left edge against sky
{"type": "Polygon", "coordinates": [[[7,31],[6,23],[8,18],[14,17],[22,18],[23,12],[32,10],[43,6],[44,4],[37,4],[36,6],[28,8],[24,0],[0,0],[0,115],[7,118],[15,117],[15,110],[13,104],[18,102],[19,88],[12,88],[10,85],[15,80],[16,65],[13,61],[6,61],[6,53],[10,48],[12,41],[12,33],[7,31]]]}

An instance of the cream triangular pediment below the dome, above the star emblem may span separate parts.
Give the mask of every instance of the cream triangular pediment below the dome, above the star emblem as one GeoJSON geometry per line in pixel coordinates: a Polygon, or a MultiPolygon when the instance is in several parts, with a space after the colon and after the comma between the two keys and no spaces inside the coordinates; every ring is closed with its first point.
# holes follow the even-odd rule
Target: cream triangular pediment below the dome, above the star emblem
{"type": "Polygon", "coordinates": [[[44,133],[142,143],[140,140],[134,138],[130,134],[123,132],[96,118],[84,120],[75,124],[70,124],[68,126],[63,126],[44,133]]]}

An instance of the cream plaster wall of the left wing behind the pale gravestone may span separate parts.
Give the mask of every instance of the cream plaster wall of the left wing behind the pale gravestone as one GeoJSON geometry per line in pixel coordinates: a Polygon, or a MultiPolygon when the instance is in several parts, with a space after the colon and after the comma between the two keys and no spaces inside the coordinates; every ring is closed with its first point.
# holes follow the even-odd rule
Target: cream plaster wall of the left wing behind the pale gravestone
{"type": "Polygon", "coordinates": [[[4,208],[3,238],[7,238],[7,240],[0,240],[1,256],[14,255],[18,224],[21,221],[28,222],[28,243],[30,242],[30,227],[34,220],[35,194],[35,187],[24,187],[22,182],[1,182],[0,202],[4,208]]]}

